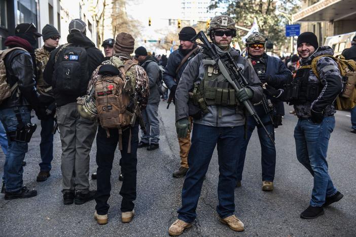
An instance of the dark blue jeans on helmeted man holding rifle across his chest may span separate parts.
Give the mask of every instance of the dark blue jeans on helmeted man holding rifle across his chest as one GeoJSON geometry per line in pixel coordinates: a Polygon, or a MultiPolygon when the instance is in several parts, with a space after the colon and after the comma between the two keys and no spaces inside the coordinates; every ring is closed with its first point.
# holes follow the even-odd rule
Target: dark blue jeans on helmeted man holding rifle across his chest
{"type": "Polygon", "coordinates": [[[243,142],[243,126],[212,127],[194,124],[192,145],[188,155],[189,170],[182,190],[182,207],[178,218],[191,223],[196,218],[196,208],[209,167],[212,152],[218,144],[219,183],[217,212],[221,218],[234,214],[236,164],[243,142]]]}

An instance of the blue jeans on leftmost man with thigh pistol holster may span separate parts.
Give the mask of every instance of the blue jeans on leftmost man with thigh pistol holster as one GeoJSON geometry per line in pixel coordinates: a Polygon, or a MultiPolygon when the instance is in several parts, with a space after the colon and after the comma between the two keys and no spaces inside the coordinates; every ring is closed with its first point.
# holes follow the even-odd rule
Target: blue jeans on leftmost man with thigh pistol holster
{"type": "MultiPolygon", "coordinates": [[[[21,119],[24,124],[30,123],[30,110],[27,106],[19,106],[21,119]]],[[[18,121],[13,108],[0,110],[0,120],[7,132],[17,130],[18,121]]],[[[16,192],[22,187],[22,162],[27,152],[27,142],[9,141],[9,150],[4,164],[4,182],[7,192],[16,192]]]]}

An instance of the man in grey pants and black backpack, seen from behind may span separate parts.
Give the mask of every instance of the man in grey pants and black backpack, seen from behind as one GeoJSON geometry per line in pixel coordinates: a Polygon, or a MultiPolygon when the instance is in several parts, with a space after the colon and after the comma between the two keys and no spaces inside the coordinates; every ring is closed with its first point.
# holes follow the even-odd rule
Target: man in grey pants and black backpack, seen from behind
{"type": "Polygon", "coordinates": [[[51,53],[43,74],[53,87],[57,105],[64,204],[84,204],[93,200],[95,193],[89,190],[89,152],[97,123],[79,115],[77,97],[86,94],[90,76],[104,57],[85,34],[86,24],[72,20],[68,44],[51,53]]]}

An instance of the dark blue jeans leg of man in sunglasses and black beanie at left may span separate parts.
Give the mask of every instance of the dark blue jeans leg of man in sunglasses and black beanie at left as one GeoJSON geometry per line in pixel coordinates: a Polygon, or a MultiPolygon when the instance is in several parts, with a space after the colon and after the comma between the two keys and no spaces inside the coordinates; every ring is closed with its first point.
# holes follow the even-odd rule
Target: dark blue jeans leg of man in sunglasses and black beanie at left
{"type": "Polygon", "coordinates": [[[41,160],[40,170],[50,171],[52,169],[51,162],[53,160],[53,130],[54,119],[49,117],[48,119],[41,120],[41,160]]]}

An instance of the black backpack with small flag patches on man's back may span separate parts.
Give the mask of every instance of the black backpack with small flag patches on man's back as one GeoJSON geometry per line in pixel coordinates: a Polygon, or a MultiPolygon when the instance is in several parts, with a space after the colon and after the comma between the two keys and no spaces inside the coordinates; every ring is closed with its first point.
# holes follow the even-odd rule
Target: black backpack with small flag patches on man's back
{"type": "Polygon", "coordinates": [[[60,93],[77,95],[83,82],[88,81],[89,59],[84,47],[63,45],[56,54],[53,88],[60,93]]]}

